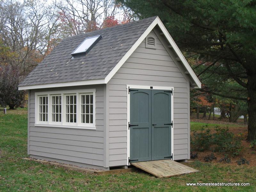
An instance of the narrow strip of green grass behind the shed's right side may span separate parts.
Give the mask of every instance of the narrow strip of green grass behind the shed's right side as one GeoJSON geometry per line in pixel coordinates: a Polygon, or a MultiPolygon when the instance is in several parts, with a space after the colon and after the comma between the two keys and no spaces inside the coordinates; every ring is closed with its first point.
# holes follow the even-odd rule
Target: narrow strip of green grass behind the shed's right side
{"type": "Polygon", "coordinates": [[[215,128],[216,126],[219,126],[220,128],[226,128],[226,127],[242,127],[242,126],[245,126],[245,125],[240,125],[240,124],[213,124],[213,123],[201,123],[201,122],[193,122],[193,121],[190,121],[190,131],[199,131],[202,129],[202,127],[204,128],[209,128],[209,129],[213,129],[215,128]]]}

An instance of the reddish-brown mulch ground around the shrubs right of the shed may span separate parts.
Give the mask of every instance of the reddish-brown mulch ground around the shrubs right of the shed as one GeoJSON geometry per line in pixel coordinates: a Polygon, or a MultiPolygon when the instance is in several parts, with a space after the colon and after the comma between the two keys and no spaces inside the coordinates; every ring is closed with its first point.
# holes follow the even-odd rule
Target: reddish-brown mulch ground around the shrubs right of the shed
{"type": "MultiPolygon", "coordinates": [[[[256,166],[256,150],[250,148],[250,142],[246,140],[246,137],[248,134],[247,127],[233,126],[233,127],[229,127],[229,131],[233,132],[234,134],[242,133],[242,137],[243,137],[243,140],[242,140],[243,150],[239,156],[235,156],[235,157],[232,157],[230,155],[228,156],[228,158],[231,160],[230,164],[237,165],[237,162],[236,162],[237,160],[239,160],[240,158],[245,158],[250,162],[250,164],[247,166],[256,166]]],[[[214,130],[212,130],[212,132],[214,132],[214,130]]],[[[220,163],[219,161],[220,161],[220,158],[223,158],[225,156],[225,153],[220,153],[220,152],[212,152],[212,151],[197,152],[197,158],[195,158],[195,160],[205,162],[204,157],[211,155],[211,153],[213,153],[214,156],[217,157],[217,159],[212,160],[212,163],[223,164],[223,163],[220,163]]],[[[237,165],[237,166],[240,166],[240,165],[237,165]]]]}

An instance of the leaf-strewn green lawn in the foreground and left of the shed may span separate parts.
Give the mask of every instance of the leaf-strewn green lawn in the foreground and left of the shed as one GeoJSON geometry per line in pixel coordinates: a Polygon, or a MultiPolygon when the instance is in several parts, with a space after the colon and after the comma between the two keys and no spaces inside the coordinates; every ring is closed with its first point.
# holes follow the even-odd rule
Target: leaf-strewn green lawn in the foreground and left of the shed
{"type": "Polygon", "coordinates": [[[195,161],[189,165],[200,172],[159,179],[145,172],[95,176],[24,160],[27,115],[22,112],[0,112],[0,132],[0,191],[256,191],[256,167],[250,165],[195,161]],[[249,182],[251,186],[187,187],[186,182],[249,182]]]}

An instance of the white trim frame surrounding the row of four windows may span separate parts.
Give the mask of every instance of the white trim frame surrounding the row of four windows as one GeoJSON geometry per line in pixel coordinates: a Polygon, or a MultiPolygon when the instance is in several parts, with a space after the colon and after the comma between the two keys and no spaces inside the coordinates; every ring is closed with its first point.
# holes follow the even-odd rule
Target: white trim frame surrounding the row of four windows
{"type": "Polygon", "coordinates": [[[35,93],[35,126],[41,127],[59,127],[59,128],[74,128],[74,129],[91,129],[96,130],[95,124],[96,110],[96,89],[79,89],[67,91],[51,91],[51,92],[36,92],[35,93]],[[81,123],[81,94],[93,94],[93,123],[81,123]],[[66,95],[76,94],[76,123],[66,122],[66,95]],[[61,122],[52,121],[52,96],[61,95],[61,122]],[[39,97],[48,96],[48,121],[39,121],[39,97]]]}

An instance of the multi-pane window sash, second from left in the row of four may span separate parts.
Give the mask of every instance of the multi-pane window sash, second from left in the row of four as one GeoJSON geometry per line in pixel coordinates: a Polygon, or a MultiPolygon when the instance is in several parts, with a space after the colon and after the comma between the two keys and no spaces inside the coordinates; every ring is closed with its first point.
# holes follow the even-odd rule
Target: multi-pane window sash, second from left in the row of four
{"type": "Polygon", "coordinates": [[[52,96],[52,121],[61,122],[61,96],[52,96]]]}

